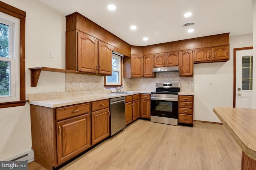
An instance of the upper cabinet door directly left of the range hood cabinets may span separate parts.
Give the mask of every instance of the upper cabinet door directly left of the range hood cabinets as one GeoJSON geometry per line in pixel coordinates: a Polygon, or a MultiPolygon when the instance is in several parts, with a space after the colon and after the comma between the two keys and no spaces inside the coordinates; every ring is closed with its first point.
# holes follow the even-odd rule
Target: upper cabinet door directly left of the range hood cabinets
{"type": "Polygon", "coordinates": [[[154,68],[153,55],[144,55],[144,57],[143,57],[143,77],[155,77],[153,68],[154,68]]]}

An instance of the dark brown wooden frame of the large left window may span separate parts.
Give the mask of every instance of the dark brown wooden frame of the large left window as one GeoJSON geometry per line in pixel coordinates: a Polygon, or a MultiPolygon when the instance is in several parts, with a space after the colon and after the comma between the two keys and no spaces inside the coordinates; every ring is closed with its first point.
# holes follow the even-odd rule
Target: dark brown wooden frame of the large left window
{"type": "Polygon", "coordinates": [[[9,16],[13,16],[15,18],[20,19],[20,45],[19,45],[19,53],[20,53],[20,100],[14,102],[2,102],[0,103],[0,108],[5,107],[16,107],[16,106],[24,106],[28,100],[26,100],[26,91],[25,91],[25,23],[26,23],[26,12],[10,6],[4,2],[0,1],[0,12],[3,12],[9,16]]]}

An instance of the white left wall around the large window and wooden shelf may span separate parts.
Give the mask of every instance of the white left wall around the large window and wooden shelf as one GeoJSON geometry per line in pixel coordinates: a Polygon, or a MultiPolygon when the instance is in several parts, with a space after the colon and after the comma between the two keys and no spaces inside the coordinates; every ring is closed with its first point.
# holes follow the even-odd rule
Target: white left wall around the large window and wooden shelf
{"type": "MultiPolygon", "coordinates": [[[[26,99],[27,94],[65,92],[65,74],[41,72],[37,87],[30,87],[28,68],[65,68],[65,16],[34,0],[2,0],[26,12],[26,99]],[[53,58],[47,57],[47,50],[53,58]]],[[[30,106],[0,109],[0,160],[31,149],[30,106]]]]}

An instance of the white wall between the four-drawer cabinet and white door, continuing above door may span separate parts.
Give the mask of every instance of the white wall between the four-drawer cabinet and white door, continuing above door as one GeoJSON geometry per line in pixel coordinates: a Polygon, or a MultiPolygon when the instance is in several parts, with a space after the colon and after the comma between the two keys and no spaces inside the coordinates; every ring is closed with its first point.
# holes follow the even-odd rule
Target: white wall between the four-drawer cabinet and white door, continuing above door
{"type": "Polygon", "coordinates": [[[194,120],[220,122],[212,107],[233,107],[233,50],[251,46],[252,34],[233,36],[229,61],[194,64],[194,120]]]}

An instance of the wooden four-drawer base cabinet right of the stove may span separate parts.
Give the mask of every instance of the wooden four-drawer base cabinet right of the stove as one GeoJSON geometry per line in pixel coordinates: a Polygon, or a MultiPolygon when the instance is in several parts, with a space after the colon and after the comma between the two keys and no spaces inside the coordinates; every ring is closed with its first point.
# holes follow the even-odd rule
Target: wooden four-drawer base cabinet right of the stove
{"type": "Polygon", "coordinates": [[[178,96],[178,123],[193,125],[194,119],[194,96],[179,95],[178,96]]]}

